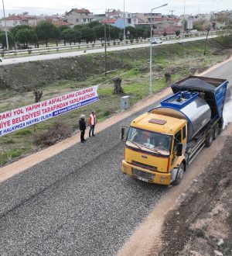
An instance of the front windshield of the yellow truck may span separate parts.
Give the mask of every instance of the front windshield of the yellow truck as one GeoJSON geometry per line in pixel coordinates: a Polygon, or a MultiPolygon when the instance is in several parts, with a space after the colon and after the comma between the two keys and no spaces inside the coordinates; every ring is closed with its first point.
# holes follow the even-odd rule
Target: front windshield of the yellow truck
{"type": "Polygon", "coordinates": [[[172,136],[130,127],[127,142],[137,144],[143,150],[146,148],[148,150],[158,151],[159,154],[167,154],[167,151],[170,151],[172,136]]]}

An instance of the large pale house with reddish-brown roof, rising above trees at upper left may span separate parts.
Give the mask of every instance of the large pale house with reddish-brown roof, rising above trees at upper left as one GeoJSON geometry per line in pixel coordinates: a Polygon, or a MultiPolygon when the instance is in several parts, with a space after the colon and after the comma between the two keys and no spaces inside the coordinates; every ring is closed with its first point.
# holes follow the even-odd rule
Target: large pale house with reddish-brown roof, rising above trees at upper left
{"type": "Polygon", "coordinates": [[[87,9],[71,9],[64,16],[64,20],[75,25],[87,24],[95,20],[94,15],[87,9]]]}

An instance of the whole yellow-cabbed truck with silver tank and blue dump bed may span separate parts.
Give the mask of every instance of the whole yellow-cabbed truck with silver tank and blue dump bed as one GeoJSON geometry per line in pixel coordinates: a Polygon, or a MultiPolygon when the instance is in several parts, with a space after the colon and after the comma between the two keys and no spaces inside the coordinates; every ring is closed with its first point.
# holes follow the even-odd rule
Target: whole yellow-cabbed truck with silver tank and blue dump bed
{"type": "Polygon", "coordinates": [[[121,170],[143,182],[178,185],[186,167],[223,128],[228,81],[189,76],[172,84],[160,106],[131,122],[121,170]]]}

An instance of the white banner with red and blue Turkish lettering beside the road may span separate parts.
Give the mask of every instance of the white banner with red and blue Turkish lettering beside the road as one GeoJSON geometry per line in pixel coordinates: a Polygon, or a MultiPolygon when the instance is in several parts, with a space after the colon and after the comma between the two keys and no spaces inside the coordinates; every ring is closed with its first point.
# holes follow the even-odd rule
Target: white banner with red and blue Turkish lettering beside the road
{"type": "Polygon", "coordinates": [[[0,113],[0,137],[46,119],[97,102],[98,85],[58,96],[19,109],[0,113]]]}

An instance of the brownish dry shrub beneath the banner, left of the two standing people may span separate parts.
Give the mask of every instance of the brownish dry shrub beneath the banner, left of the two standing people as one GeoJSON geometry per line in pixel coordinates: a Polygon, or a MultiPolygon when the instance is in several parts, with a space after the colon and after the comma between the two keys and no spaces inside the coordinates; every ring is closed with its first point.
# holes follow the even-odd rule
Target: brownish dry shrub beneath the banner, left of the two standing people
{"type": "Polygon", "coordinates": [[[68,126],[66,123],[56,122],[53,123],[52,126],[49,126],[46,131],[36,134],[34,136],[34,143],[36,145],[43,144],[49,146],[56,144],[58,140],[65,139],[71,135],[72,131],[70,126],[68,126]]]}

